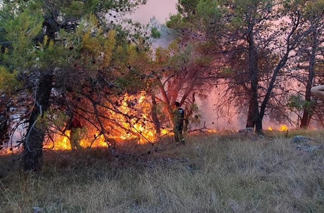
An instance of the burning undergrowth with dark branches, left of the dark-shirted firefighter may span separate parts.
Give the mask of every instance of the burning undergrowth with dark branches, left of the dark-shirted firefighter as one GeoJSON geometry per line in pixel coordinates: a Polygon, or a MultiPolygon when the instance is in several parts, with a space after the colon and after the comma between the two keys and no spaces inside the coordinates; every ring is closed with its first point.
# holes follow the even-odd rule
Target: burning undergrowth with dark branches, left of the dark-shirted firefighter
{"type": "MultiPolygon", "coordinates": [[[[82,148],[120,146],[126,141],[154,143],[158,138],[170,133],[170,128],[162,126],[158,126],[161,133],[157,133],[157,126],[151,119],[151,103],[145,92],[137,95],[124,94],[115,100],[105,99],[100,103],[90,98],[81,99],[71,111],[72,116],[82,124],[82,128],[75,134],[82,148]]],[[[53,132],[47,137],[45,148],[73,148],[73,128],[66,130],[63,126],[66,126],[66,123],[52,126],[53,132]]]]}

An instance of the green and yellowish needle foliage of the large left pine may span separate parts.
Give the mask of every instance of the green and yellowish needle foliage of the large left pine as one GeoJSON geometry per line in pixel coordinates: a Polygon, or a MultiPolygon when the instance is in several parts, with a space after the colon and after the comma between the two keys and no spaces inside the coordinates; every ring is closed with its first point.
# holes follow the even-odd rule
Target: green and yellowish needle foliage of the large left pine
{"type": "MultiPolygon", "coordinates": [[[[26,103],[20,106],[26,106],[22,111],[28,114],[21,117],[28,121],[32,114],[31,123],[37,119],[45,133],[51,124],[64,125],[61,114],[78,105],[74,97],[83,94],[88,103],[103,103],[99,99],[108,95],[102,94],[114,98],[146,89],[141,78],[149,60],[148,32],[143,35],[141,25],[131,20],[127,27],[123,23],[125,14],[142,3],[145,0],[1,1],[0,92],[8,99],[23,94],[26,103]],[[114,14],[107,22],[109,13],[114,14]],[[13,94],[17,89],[20,93],[13,94]],[[35,97],[39,105],[46,105],[41,114],[30,113],[36,108],[35,97]]],[[[157,29],[151,33],[160,36],[157,29]]]]}

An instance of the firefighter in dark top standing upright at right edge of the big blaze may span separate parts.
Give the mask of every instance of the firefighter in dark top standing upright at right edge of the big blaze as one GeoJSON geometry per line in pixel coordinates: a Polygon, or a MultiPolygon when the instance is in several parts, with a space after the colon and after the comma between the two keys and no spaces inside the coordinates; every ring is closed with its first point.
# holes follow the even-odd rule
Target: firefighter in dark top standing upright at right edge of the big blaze
{"type": "Polygon", "coordinates": [[[175,110],[173,111],[173,132],[174,132],[174,138],[177,143],[185,144],[184,138],[183,138],[183,121],[184,121],[184,110],[180,108],[180,103],[175,103],[175,110]]]}

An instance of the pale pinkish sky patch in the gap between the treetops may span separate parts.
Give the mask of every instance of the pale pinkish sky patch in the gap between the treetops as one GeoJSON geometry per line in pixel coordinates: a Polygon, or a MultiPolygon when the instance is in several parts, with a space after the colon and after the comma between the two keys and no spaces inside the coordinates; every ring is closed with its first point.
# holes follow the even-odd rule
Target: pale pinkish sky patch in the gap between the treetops
{"type": "Polygon", "coordinates": [[[150,18],[155,16],[160,23],[165,23],[169,14],[175,14],[177,0],[147,0],[147,3],[141,6],[132,15],[132,19],[147,24],[150,18]]]}

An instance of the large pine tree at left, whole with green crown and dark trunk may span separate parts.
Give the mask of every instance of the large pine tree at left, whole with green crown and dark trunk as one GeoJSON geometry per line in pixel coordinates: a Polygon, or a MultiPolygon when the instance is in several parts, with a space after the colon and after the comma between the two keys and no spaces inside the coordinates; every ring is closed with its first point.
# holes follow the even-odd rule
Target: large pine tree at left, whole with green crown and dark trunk
{"type": "Polygon", "coordinates": [[[68,97],[89,95],[91,89],[84,88],[91,85],[126,89],[120,83],[119,73],[126,70],[121,65],[137,53],[142,35],[131,33],[139,25],[124,15],[142,3],[145,0],[1,3],[0,91],[6,103],[20,111],[13,122],[28,124],[22,140],[25,171],[41,170],[42,143],[49,128],[42,121],[70,107],[68,97]],[[133,29],[125,29],[125,21],[133,29]]]}

